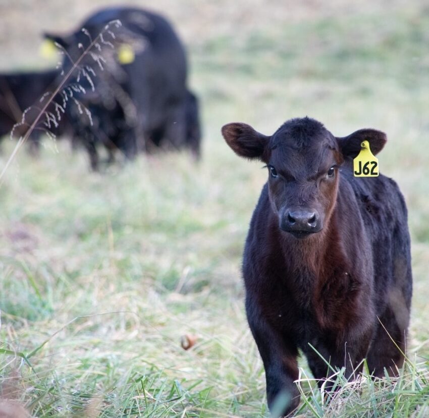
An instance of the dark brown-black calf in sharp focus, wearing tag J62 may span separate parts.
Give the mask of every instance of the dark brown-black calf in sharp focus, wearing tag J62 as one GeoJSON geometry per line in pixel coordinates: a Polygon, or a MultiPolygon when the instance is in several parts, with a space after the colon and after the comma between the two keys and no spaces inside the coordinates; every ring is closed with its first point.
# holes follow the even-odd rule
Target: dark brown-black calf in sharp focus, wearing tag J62
{"type": "Polygon", "coordinates": [[[396,374],[412,293],[407,209],[392,179],[352,172],[362,141],[377,154],[386,135],[335,137],[310,118],[291,119],[272,136],[244,123],[222,133],[236,154],[268,168],[243,275],[269,407],[280,394],[289,399],[284,414],[298,406],[298,349],[319,385],[332,374],[319,354],[347,378],[363,358],[374,376],[396,374]]]}

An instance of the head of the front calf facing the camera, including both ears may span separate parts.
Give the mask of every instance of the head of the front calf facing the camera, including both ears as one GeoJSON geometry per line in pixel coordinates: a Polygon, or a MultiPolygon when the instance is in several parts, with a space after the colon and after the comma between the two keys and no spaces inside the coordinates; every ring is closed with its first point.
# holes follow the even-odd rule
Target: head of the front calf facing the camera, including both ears
{"type": "Polygon", "coordinates": [[[229,123],[222,134],[236,154],[266,164],[279,227],[295,238],[318,233],[329,222],[337,200],[338,169],[345,159],[357,156],[361,142],[367,140],[373,154],[386,143],[386,135],[374,129],[335,137],[310,118],[291,119],[271,136],[245,123],[229,123]]]}

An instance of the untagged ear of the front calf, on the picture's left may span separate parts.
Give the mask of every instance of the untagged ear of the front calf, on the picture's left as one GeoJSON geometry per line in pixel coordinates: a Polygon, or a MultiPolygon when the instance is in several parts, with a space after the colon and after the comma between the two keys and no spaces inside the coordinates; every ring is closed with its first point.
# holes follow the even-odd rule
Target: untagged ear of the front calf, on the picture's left
{"type": "Polygon", "coordinates": [[[222,127],[222,135],[231,149],[240,157],[263,160],[269,136],[256,132],[245,123],[228,123],[222,127]]]}

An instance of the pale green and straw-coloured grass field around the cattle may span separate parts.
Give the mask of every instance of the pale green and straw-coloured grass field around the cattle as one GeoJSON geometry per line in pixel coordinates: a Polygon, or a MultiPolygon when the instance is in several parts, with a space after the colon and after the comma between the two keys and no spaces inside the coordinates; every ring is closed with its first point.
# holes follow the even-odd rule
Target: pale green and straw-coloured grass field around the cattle
{"type": "MultiPolygon", "coordinates": [[[[0,4],[1,69],[46,66],[38,34],[91,9],[74,3],[68,14],[53,0],[0,4]]],[[[379,160],[408,204],[414,296],[401,378],[345,384],[326,405],[302,361],[299,414],[429,416],[429,3],[295,3],[156,3],[188,45],[199,164],[143,156],[90,173],[83,152],[47,138],[39,159],[18,154],[0,186],[3,399],[37,417],[269,416],[240,278],[266,171],[220,127],[271,134],[308,115],[338,136],[387,132],[379,160]]],[[[4,140],[0,168],[12,150],[4,140]]]]}

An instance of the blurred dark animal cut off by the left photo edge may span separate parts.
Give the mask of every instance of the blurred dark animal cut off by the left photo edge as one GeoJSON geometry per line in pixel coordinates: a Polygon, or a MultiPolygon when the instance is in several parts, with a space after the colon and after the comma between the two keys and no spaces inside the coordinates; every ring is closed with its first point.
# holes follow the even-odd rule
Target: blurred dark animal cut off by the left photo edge
{"type": "MultiPolygon", "coordinates": [[[[14,136],[25,134],[39,114],[40,98],[55,87],[58,76],[59,71],[55,69],[0,74],[0,138],[9,134],[14,125],[21,122],[23,112],[31,108],[25,114],[24,123],[14,130],[14,136]]],[[[40,134],[43,133],[40,129],[42,122],[43,118],[29,137],[30,150],[33,153],[38,151],[40,134]]],[[[51,126],[50,130],[51,133],[61,135],[67,127],[68,124],[63,120],[57,127],[51,126]]]]}

